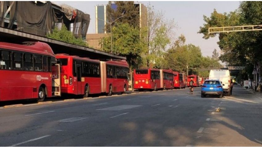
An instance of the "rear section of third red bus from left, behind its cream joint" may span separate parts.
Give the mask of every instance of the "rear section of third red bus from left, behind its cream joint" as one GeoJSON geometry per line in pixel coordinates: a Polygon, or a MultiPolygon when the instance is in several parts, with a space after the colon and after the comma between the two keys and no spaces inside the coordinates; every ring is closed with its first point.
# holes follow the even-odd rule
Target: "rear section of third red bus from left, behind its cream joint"
{"type": "Polygon", "coordinates": [[[157,90],[161,88],[159,69],[135,69],[134,89],[142,91],[144,89],[157,90]]]}

